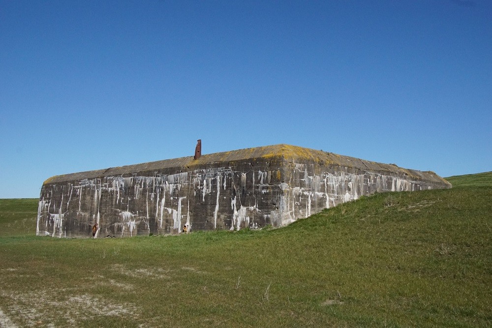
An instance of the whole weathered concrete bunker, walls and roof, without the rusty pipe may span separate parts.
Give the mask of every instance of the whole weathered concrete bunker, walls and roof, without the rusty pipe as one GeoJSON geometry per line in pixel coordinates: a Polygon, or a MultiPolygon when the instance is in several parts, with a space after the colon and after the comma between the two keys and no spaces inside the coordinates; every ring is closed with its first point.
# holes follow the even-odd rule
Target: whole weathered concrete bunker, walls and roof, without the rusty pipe
{"type": "Polygon", "coordinates": [[[449,188],[433,172],[275,145],[47,179],[36,234],[92,237],[283,226],[384,191],[449,188]]]}

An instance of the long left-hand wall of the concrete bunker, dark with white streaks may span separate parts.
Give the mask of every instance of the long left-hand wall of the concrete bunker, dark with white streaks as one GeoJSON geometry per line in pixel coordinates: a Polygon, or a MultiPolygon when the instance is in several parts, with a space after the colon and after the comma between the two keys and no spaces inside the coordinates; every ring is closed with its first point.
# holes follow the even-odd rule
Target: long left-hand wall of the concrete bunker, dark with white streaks
{"type": "MultiPolygon", "coordinates": [[[[221,203],[227,199],[236,199],[240,203],[250,197],[256,199],[258,186],[254,185],[254,179],[251,179],[253,185],[249,186],[250,180],[247,179],[247,176],[252,174],[259,174],[264,180],[272,176],[269,171],[251,171],[246,175],[243,172],[236,173],[230,167],[223,167],[171,175],[156,174],[152,177],[108,176],[70,181],[66,185],[45,185],[39,203],[37,234],[41,235],[39,227],[42,223],[50,227],[51,236],[57,237],[83,237],[88,234],[89,227],[96,223],[101,229],[94,238],[99,235],[124,237],[148,235],[150,232],[177,233],[181,231],[184,221],[187,227],[191,228],[195,224],[194,218],[203,217],[204,210],[212,214],[213,221],[209,224],[202,222],[201,229],[240,229],[242,225],[247,226],[251,221],[247,212],[255,211],[252,209],[255,208],[256,202],[248,202],[253,204],[244,207],[241,205],[238,209],[225,213],[221,210],[224,208],[221,203]],[[236,185],[239,185],[239,190],[236,185]],[[65,202],[65,194],[59,192],[61,189],[69,189],[69,195],[76,194],[78,201],[65,202]],[[55,203],[58,204],[57,207],[51,205],[55,203]],[[209,212],[209,208],[213,211],[209,212]],[[65,215],[70,218],[70,222],[64,225],[65,215]],[[62,228],[65,229],[67,226],[68,235],[62,234],[62,228]],[[147,231],[143,232],[144,229],[147,231]]],[[[271,189],[272,186],[268,188],[271,189]]]]}

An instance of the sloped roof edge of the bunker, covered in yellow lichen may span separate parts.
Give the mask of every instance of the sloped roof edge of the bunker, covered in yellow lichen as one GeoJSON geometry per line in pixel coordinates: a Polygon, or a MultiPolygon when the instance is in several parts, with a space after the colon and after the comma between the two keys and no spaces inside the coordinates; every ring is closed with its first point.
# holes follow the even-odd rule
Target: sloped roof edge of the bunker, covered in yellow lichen
{"type": "Polygon", "coordinates": [[[125,165],[119,167],[111,167],[102,170],[85,171],[79,173],[64,174],[60,176],[54,176],[43,184],[58,183],[63,181],[75,181],[83,179],[103,178],[108,176],[122,176],[135,174],[139,172],[153,172],[166,168],[173,167],[186,167],[192,169],[193,167],[203,166],[207,164],[227,163],[248,159],[258,158],[278,158],[283,159],[291,163],[317,163],[324,165],[335,165],[346,168],[357,168],[363,171],[376,172],[384,171],[393,174],[403,174],[409,176],[411,179],[417,180],[433,180],[444,181],[449,183],[441,177],[437,176],[431,171],[417,171],[400,168],[395,164],[383,164],[377,162],[371,162],[355,157],[343,156],[326,152],[322,150],[308,149],[298,146],[291,146],[285,144],[254,147],[246,149],[238,149],[231,151],[215,152],[212,154],[202,155],[198,159],[193,159],[193,156],[179,157],[173,159],[165,159],[155,162],[148,162],[142,164],[125,165]]]}

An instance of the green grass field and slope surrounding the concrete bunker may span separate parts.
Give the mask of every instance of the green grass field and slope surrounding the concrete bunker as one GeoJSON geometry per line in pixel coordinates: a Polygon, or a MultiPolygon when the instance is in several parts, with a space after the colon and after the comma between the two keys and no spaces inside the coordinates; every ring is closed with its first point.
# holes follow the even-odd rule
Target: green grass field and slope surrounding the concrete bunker
{"type": "Polygon", "coordinates": [[[0,200],[0,327],[491,327],[492,175],[281,229],[35,237],[0,200]]]}

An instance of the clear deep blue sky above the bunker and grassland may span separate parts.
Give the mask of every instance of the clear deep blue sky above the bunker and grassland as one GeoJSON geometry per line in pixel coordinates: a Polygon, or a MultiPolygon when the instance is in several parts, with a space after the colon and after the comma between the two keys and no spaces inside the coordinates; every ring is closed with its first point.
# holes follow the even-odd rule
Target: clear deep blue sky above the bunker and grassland
{"type": "Polygon", "coordinates": [[[0,198],[280,143],[492,170],[492,1],[0,0],[0,198]]]}

